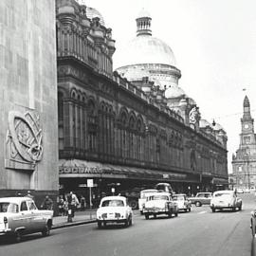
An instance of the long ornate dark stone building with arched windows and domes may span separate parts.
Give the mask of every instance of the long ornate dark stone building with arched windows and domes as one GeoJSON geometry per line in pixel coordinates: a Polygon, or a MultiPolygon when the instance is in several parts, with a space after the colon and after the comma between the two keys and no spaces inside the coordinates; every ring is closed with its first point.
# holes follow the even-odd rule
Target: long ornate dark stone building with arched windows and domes
{"type": "Polygon", "coordinates": [[[135,61],[133,53],[132,63],[123,59],[128,63],[113,72],[115,40],[101,13],[57,0],[62,193],[87,197],[91,179],[93,198],[157,182],[188,193],[228,184],[227,135],[200,119],[195,101],[178,86],[172,49],[151,38],[151,19],[143,13],[133,47],[145,46],[155,57],[142,52],[135,61]]]}

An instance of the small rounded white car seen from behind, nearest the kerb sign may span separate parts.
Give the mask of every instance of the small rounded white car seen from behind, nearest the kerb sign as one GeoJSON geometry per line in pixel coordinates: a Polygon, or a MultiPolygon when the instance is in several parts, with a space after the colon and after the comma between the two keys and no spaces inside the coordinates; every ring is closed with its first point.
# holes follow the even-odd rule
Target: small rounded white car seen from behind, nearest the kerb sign
{"type": "Polygon", "coordinates": [[[124,196],[105,196],[97,210],[97,223],[101,229],[107,223],[123,223],[125,227],[133,222],[133,210],[124,196]]]}

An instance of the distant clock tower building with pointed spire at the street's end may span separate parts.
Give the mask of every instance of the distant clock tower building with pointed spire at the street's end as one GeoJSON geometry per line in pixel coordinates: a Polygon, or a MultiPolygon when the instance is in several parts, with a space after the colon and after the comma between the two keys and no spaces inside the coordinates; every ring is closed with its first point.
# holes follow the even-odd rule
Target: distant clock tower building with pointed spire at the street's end
{"type": "Polygon", "coordinates": [[[234,188],[255,190],[256,187],[256,139],[254,134],[254,119],[250,115],[250,104],[245,97],[244,114],[241,119],[241,134],[239,149],[232,155],[232,170],[230,175],[234,188]]]}

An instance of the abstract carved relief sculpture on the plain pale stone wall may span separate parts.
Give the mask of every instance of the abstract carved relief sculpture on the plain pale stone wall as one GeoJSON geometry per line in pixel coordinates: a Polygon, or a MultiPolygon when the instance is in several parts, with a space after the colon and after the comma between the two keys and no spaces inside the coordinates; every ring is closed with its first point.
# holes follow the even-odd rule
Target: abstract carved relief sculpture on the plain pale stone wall
{"type": "Polygon", "coordinates": [[[34,170],[43,156],[42,129],[35,113],[9,112],[5,167],[34,170]]]}

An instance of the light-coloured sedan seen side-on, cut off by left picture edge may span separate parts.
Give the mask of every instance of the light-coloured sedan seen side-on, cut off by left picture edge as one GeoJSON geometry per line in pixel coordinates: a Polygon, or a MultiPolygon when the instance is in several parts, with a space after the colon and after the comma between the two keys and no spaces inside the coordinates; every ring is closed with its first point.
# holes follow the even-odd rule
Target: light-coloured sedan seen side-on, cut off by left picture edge
{"type": "Polygon", "coordinates": [[[10,235],[20,242],[25,234],[50,233],[53,210],[38,210],[29,197],[0,198],[0,235],[10,235]]]}

